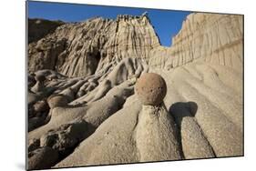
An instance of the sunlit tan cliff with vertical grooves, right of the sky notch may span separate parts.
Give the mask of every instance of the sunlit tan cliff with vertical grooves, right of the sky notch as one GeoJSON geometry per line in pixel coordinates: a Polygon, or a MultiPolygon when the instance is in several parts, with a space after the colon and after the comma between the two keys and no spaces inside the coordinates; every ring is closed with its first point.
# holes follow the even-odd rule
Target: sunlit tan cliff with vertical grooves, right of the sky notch
{"type": "Polygon", "coordinates": [[[242,15],[194,13],[183,21],[170,47],[151,51],[149,65],[166,68],[200,60],[239,72],[243,63],[242,15]]]}

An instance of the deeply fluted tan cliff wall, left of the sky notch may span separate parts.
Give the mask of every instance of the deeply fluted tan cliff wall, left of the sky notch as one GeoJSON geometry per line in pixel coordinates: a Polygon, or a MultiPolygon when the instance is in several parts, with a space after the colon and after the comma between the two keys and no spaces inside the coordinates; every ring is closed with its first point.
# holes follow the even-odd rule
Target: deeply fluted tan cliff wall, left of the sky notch
{"type": "Polygon", "coordinates": [[[117,20],[92,18],[61,25],[28,46],[28,70],[52,69],[67,76],[93,75],[126,57],[148,60],[159,38],[147,15],[118,15],[117,20]]]}

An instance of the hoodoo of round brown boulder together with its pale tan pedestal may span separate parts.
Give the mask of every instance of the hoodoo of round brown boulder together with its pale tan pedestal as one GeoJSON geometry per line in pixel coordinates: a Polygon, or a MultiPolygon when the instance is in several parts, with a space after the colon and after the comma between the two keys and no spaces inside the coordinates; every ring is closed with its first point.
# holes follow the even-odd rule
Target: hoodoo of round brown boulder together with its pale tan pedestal
{"type": "Polygon", "coordinates": [[[180,159],[176,127],[163,103],[167,92],[165,80],[154,73],[141,75],[136,91],[142,103],[136,133],[139,160],[180,159]]]}

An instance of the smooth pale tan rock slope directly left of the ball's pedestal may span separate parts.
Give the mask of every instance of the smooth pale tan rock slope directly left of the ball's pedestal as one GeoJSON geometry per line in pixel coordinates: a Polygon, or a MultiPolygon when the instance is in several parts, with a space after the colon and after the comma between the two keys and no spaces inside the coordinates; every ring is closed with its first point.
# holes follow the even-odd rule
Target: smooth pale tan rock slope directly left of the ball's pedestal
{"type": "Polygon", "coordinates": [[[133,99],[129,106],[110,116],[92,136],[75,149],[74,153],[54,167],[138,162],[138,149],[134,135],[141,104],[137,98],[133,99]]]}

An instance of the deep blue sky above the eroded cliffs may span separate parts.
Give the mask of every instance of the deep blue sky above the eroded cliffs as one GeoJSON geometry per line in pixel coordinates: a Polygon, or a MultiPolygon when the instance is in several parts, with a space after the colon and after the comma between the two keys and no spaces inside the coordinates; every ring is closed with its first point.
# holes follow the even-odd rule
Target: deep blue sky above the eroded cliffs
{"type": "Polygon", "coordinates": [[[161,45],[171,45],[171,36],[176,35],[181,28],[182,21],[190,12],[158,10],[147,8],[131,8],[100,5],[77,5],[62,3],[45,3],[28,1],[29,18],[45,18],[77,22],[94,16],[117,18],[117,15],[141,15],[148,11],[148,17],[155,31],[159,35],[161,45]]]}

